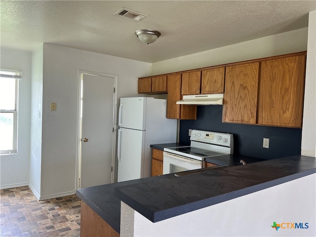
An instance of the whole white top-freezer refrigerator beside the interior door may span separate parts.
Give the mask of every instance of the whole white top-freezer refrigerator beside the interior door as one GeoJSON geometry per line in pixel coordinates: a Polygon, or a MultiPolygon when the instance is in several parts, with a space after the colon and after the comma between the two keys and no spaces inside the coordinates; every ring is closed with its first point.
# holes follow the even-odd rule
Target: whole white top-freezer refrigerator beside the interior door
{"type": "Polygon", "coordinates": [[[121,98],[118,111],[118,182],[151,176],[151,144],[174,143],[177,119],[166,118],[167,101],[121,98]]]}

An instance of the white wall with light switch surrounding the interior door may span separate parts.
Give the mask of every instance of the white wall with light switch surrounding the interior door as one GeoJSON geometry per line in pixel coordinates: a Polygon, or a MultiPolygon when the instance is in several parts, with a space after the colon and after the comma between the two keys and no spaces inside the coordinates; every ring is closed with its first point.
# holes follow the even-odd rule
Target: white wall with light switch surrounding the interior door
{"type": "Polygon", "coordinates": [[[120,98],[136,96],[138,77],[150,69],[150,63],[43,44],[41,199],[76,191],[78,71],[118,75],[120,98]],[[51,102],[56,111],[50,111],[51,102]]]}

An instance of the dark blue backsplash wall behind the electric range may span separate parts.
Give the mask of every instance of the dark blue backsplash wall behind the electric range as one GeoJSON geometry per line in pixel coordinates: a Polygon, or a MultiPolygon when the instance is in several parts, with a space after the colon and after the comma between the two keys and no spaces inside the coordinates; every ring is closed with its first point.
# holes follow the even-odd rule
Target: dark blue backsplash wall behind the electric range
{"type": "Polygon", "coordinates": [[[234,134],[234,154],[274,159],[301,154],[302,129],[222,122],[223,106],[197,106],[197,120],[180,120],[179,142],[190,144],[189,129],[234,134]],[[270,148],[263,148],[263,138],[270,148]]]}

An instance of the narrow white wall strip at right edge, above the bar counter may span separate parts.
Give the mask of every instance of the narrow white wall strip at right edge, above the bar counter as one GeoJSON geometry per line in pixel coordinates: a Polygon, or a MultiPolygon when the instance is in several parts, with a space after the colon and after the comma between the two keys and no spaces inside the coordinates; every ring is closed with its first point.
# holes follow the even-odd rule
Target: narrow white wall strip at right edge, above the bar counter
{"type": "Polygon", "coordinates": [[[316,157],[316,11],[309,14],[301,154],[316,157]]]}

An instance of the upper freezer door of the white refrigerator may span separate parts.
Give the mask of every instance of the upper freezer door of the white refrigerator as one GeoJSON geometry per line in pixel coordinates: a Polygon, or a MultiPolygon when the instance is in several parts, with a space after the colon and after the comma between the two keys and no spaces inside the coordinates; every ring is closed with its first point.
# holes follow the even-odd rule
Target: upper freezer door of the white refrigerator
{"type": "Polygon", "coordinates": [[[118,111],[118,126],[145,130],[147,97],[121,98],[118,111]]]}

